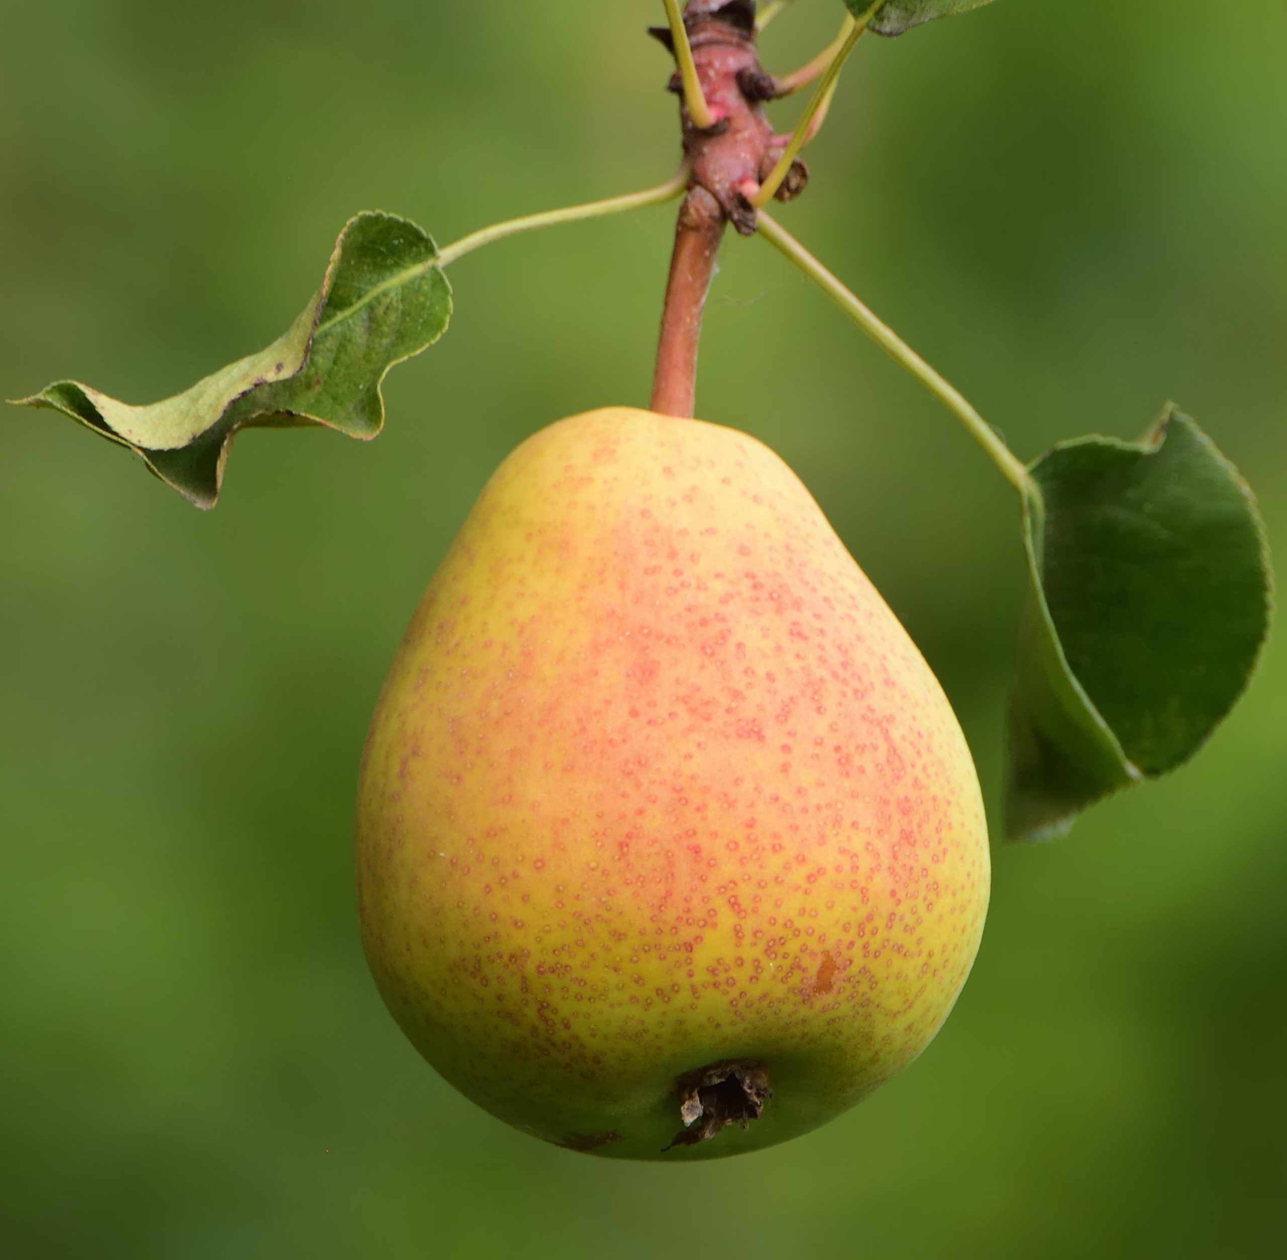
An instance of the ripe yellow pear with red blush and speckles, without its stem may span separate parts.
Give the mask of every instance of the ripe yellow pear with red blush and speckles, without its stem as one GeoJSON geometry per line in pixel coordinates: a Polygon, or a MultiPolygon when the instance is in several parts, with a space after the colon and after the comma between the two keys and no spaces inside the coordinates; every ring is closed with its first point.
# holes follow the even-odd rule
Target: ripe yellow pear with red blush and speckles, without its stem
{"type": "Polygon", "coordinates": [[[916,1058],[990,885],[951,707],[810,493],[627,408],[483,490],[380,699],[356,874],[452,1085],[664,1160],[785,1142],[916,1058]]]}

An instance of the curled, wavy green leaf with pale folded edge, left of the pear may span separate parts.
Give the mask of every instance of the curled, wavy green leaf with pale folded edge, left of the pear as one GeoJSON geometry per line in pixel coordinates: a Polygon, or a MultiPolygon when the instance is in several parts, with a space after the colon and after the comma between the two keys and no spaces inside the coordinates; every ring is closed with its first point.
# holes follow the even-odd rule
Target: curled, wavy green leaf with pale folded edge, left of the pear
{"type": "Polygon", "coordinates": [[[438,246],[386,214],[351,219],[317,296],[266,350],[187,393],[130,407],[79,381],[58,381],[19,405],[62,412],[136,452],[197,507],[214,507],[242,429],[323,425],[371,439],[384,427],[389,369],[432,345],[452,315],[438,246]]]}

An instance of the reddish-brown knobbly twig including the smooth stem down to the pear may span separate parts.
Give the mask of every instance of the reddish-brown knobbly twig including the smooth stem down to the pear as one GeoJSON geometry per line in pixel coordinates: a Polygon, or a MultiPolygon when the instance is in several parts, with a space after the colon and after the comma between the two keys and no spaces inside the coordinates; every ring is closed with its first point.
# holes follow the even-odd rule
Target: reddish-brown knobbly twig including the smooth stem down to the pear
{"type": "MultiPolygon", "coordinates": [[[[683,152],[692,166],[692,181],[676,228],[651,409],[691,420],[696,413],[701,317],[719,242],[730,223],[743,236],[755,232],[750,198],[777,166],[789,136],[773,135],[764,115],[764,102],[777,95],[777,81],[759,64],[752,0],[689,0],[683,24],[716,122],[703,130],[692,121],[687,103],[681,106],[683,152]]],[[[674,51],[669,27],[654,27],[651,33],[674,51]]],[[[671,89],[682,102],[680,75],[671,80],[671,89]]],[[[790,201],[807,183],[808,169],[797,161],[777,199],[790,201]]]]}

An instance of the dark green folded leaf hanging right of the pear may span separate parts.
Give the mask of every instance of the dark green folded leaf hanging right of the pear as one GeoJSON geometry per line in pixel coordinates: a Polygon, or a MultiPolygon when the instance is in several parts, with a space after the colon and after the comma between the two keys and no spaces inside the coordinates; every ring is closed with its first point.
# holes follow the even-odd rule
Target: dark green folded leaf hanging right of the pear
{"type": "Polygon", "coordinates": [[[1192,757],[1251,678],[1272,602],[1251,490],[1174,407],[1140,443],[1082,438],[1028,471],[1013,840],[1063,835],[1192,757]]]}

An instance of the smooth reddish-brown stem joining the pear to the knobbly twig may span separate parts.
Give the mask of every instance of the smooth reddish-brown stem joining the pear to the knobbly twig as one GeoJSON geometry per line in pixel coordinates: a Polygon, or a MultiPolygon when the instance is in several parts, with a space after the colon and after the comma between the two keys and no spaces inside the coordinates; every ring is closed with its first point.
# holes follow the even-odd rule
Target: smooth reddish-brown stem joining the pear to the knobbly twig
{"type": "Polygon", "coordinates": [[[723,207],[704,188],[694,188],[680,207],[653,380],[653,411],[663,416],[691,420],[696,413],[701,319],[727,224],[723,207]]]}

